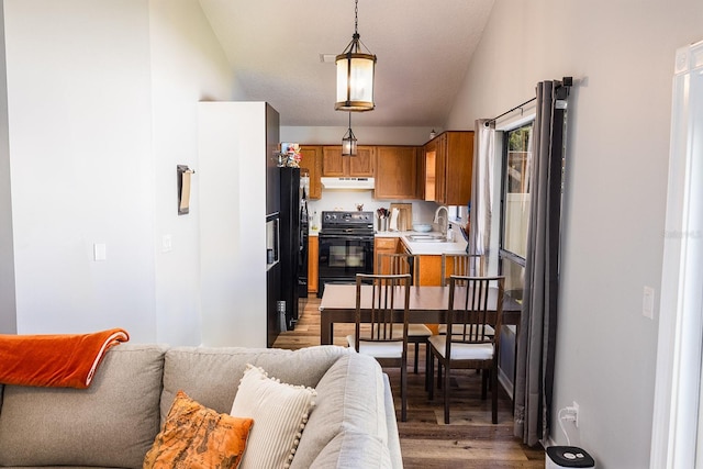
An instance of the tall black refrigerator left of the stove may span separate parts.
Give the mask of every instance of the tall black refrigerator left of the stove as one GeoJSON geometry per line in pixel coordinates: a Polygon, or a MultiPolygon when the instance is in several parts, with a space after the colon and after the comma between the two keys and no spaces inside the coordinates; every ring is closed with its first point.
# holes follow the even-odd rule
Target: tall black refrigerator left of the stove
{"type": "Polygon", "coordinates": [[[308,291],[308,213],[300,168],[280,168],[281,331],[292,331],[299,319],[299,300],[308,291]],[[284,308],[284,319],[282,309],[284,308]]]}

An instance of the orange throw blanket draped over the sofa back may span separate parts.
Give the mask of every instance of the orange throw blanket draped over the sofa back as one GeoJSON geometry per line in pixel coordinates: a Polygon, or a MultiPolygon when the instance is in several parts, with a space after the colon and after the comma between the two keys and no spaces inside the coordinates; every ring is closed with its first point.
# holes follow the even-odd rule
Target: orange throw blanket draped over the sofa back
{"type": "Polygon", "coordinates": [[[108,348],[129,339],[121,328],[92,334],[0,334],[0,383],[88,388],[108,348]]]}

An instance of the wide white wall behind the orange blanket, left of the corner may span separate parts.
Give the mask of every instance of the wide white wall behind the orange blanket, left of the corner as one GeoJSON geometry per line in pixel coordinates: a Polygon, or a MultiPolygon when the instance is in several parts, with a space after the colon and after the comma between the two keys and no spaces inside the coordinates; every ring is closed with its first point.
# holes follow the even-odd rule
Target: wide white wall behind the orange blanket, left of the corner
{"type": "Polygon", "coordinates": [[[153,338],[148,2],[4,9],[18,332],[153,338]]]}

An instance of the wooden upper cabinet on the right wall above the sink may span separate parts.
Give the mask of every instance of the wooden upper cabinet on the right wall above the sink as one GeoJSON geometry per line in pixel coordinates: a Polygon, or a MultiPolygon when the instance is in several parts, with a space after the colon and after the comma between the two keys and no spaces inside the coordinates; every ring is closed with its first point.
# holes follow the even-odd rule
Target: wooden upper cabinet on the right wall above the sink
{"type": "Polygon", "coordinates": [[[471,200],[473,132],[444,132],[424,146],[424,199],[446,205],[471,200]]]}

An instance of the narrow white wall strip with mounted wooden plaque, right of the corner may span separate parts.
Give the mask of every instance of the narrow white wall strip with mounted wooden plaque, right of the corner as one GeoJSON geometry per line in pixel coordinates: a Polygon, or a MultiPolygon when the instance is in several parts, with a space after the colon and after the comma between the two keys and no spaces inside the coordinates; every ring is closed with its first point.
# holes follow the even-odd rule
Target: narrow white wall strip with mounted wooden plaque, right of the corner
{"type": "Polygon", "coordinates": [[[233,76],[197,1],[158,0],[149,4],[157,340],[199,345],[198,102],[232,100],[233,76]],[[177,212],[177,165],[196,170],[191,210],[181,216],[177,212]],[[164,236],[170,236],[172,250],[164,249],[164,236]]]}

